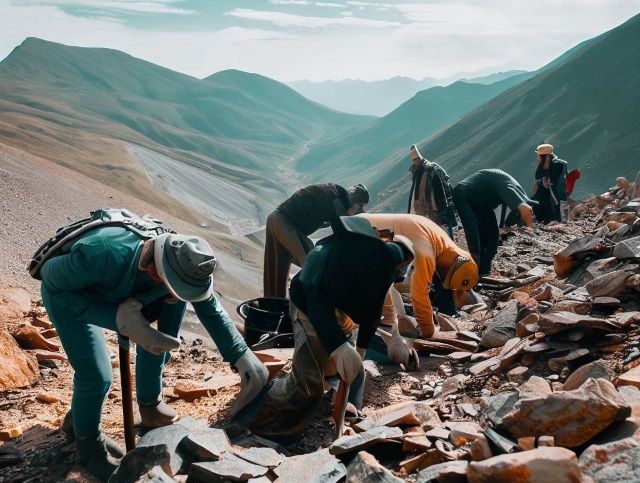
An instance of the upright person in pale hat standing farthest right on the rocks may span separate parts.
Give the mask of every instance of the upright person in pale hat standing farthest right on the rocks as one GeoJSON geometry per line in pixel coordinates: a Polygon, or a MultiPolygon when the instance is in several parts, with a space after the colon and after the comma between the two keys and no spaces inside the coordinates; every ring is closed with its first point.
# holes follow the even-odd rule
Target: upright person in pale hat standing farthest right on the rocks
{"type": "Polygon", "coordinates": [[[553,154],[551,144],[541,144],[536,149],[536,153],[538,168],[532,199],[536,200],[538,205],[533,207],[533,213],[540,223],[546,224],[551,221],[566,223],[569,218],[567,162],[553,154]]]}

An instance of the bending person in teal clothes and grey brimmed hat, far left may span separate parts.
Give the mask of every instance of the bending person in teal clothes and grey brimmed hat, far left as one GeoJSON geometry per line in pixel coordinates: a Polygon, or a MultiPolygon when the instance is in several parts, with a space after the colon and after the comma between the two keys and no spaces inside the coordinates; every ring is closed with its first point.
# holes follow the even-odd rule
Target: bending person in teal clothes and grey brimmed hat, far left
{"type": "MultiPolygon", "coordinates": [[[[79,238],[70,252],[42,267],[42,300],[73,367],[71,417],[79,460],[106,480],[122,450],[100,429],[102,404],[113,380],[102,329],[127,335],[136,351],[136,395],[142,425],[171,424],[177,413],[162,401],[162,370],[191,302],[222,357],[235,366],[240,410],[267,382],[264,365],[247,348],[213,292],[216,260],[199,237],[164,234],[141,240],[119,227],[104,227],[79,238]],[[158,330],[144,307],[156,310],[158,330]]],[[[155,319],[156,317],[152,317],[155,319]]]]}

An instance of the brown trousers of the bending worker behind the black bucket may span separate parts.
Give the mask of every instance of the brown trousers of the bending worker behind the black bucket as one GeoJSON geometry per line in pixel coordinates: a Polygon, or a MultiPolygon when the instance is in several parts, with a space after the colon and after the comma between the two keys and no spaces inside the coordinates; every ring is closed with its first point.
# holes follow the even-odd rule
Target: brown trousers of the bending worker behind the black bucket
{"type": "Polygon", "coordinates": [[[265,237],[264,296],[285,298],[291,263],[302,267],[313,242],[300,233],[289,218],[277,211],[267,218],[265,237]]]}

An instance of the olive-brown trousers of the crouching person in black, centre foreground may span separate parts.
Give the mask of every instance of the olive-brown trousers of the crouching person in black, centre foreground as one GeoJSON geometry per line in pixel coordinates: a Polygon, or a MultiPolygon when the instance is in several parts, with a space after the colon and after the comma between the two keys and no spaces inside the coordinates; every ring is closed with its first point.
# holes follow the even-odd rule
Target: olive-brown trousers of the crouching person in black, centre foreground
{"type": "Polygon", "coordinates": [[[276,379],[249,429],[265,438],[293,436],[315,417],[336,366],[307,316],[290,304],[295,349],[291,373],[276,379]]]}

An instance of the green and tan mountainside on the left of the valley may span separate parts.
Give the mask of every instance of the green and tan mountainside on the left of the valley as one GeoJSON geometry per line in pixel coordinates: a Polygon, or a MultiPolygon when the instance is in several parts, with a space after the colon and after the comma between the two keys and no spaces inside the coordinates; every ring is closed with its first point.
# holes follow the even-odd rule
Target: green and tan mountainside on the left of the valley
{"type": "Polygon", "coordinates": [[[227,71],[200,80],[109,49],[29,38],[0,63],[0,142],[157,203],[167,198],[152,188],[149,170],[182,163],[187,183],[198,168],[247,197],[255,209],[242,211],[256,225],[297,185],[286,165],[308,143],[370,119],[262,76],[227,71]]]}

